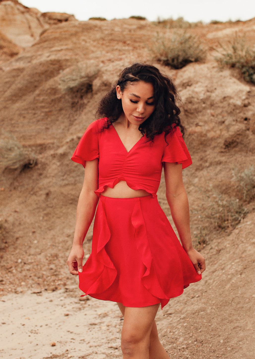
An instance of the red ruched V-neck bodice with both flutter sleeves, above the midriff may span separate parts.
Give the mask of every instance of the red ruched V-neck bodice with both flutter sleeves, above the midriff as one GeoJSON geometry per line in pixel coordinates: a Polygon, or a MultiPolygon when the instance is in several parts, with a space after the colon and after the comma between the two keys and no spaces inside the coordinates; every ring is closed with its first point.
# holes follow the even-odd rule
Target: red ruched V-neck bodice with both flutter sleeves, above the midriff
{"type": "Polygon", "coordinates": [[[126,181],[134,190],[145,190],[156,196],[164,162],[182,163],[183,168],[192,163],[188,149],[177,127],[164,138],[156,135],[151,142],[146,136],[127,152],[113,125],[101,131],[107,118],[92,122],[72,156],[72,160],[85,167],[86,160],[99,158],[99,196],[105,187],[113,188],[119,181],[126,181]]]}

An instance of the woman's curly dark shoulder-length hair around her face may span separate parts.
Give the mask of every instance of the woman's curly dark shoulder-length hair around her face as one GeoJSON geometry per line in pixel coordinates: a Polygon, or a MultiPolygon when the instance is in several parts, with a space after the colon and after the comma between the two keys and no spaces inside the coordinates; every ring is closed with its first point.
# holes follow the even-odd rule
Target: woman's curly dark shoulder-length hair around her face
{"type": "Polygon", "coordinates": [[[108,120],[101,131],[109,128],[123,113],[122,102],[117,99],[116,87],[119,85],[121,92],[132,82],[145,81],[151,83],[154,88],[155,110],[150,117],[140,124],[140,132],[153,141],[154,136],[165,132],[174,131],[180,127],[184,134],[184,127],[180,121],[180,109],[176,103],[180,103],[180,96],[175,89],[173,81],[167,75],[160,73],[157,67],[136,63],[126,67],[120,74],[113,88],[101,99],[97,115],[107,117],[108,120]]]}

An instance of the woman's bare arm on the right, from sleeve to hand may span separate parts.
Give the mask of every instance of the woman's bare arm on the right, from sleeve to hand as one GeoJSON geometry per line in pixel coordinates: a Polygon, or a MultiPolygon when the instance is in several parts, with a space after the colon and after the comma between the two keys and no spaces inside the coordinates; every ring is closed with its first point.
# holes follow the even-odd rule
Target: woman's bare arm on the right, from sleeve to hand
{"type": "Polygon", "coordinates": [[[181,164],[165,162],[164,173],[166,199],[175,227],[178,230],[181,244],[197,270],[197,273],[200,274],[206,269],[205,259],[192,246],[189,225],[189,203],[183,185],[181,164]]]}

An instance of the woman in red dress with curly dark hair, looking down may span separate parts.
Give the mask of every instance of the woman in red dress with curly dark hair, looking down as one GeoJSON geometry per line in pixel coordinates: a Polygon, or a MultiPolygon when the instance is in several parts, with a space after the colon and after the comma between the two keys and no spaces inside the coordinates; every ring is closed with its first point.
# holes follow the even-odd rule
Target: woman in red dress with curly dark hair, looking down
{"type": "Polygon", "coordinates": [[[169,358],[154,320],[159,305],[205,270],[191,241],[182,168],[192,161],[176,98],[171,79],[156,67],[127,67],[99,104],[104,118],[89,125],[72,157],[84,165],[85,177],[67,265],[79,274],[84,293],[117,302],[124,359],[169,358]],[[182,246],[156,198],[163,166],[182,246]],[[82,267],[82,242],[95,210],[92,251],[82,267]]]}

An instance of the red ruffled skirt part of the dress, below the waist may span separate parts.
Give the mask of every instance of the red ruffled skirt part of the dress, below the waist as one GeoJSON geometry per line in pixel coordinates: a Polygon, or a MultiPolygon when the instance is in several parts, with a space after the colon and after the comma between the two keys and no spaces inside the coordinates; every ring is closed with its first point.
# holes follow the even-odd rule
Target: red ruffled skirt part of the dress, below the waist
{"type": "Polygon", "coordinates": [[[84,293],[125,307],[163,308],[200,279],[157,198],[100,196],[91,255],[79,273],[84,293]]]}

